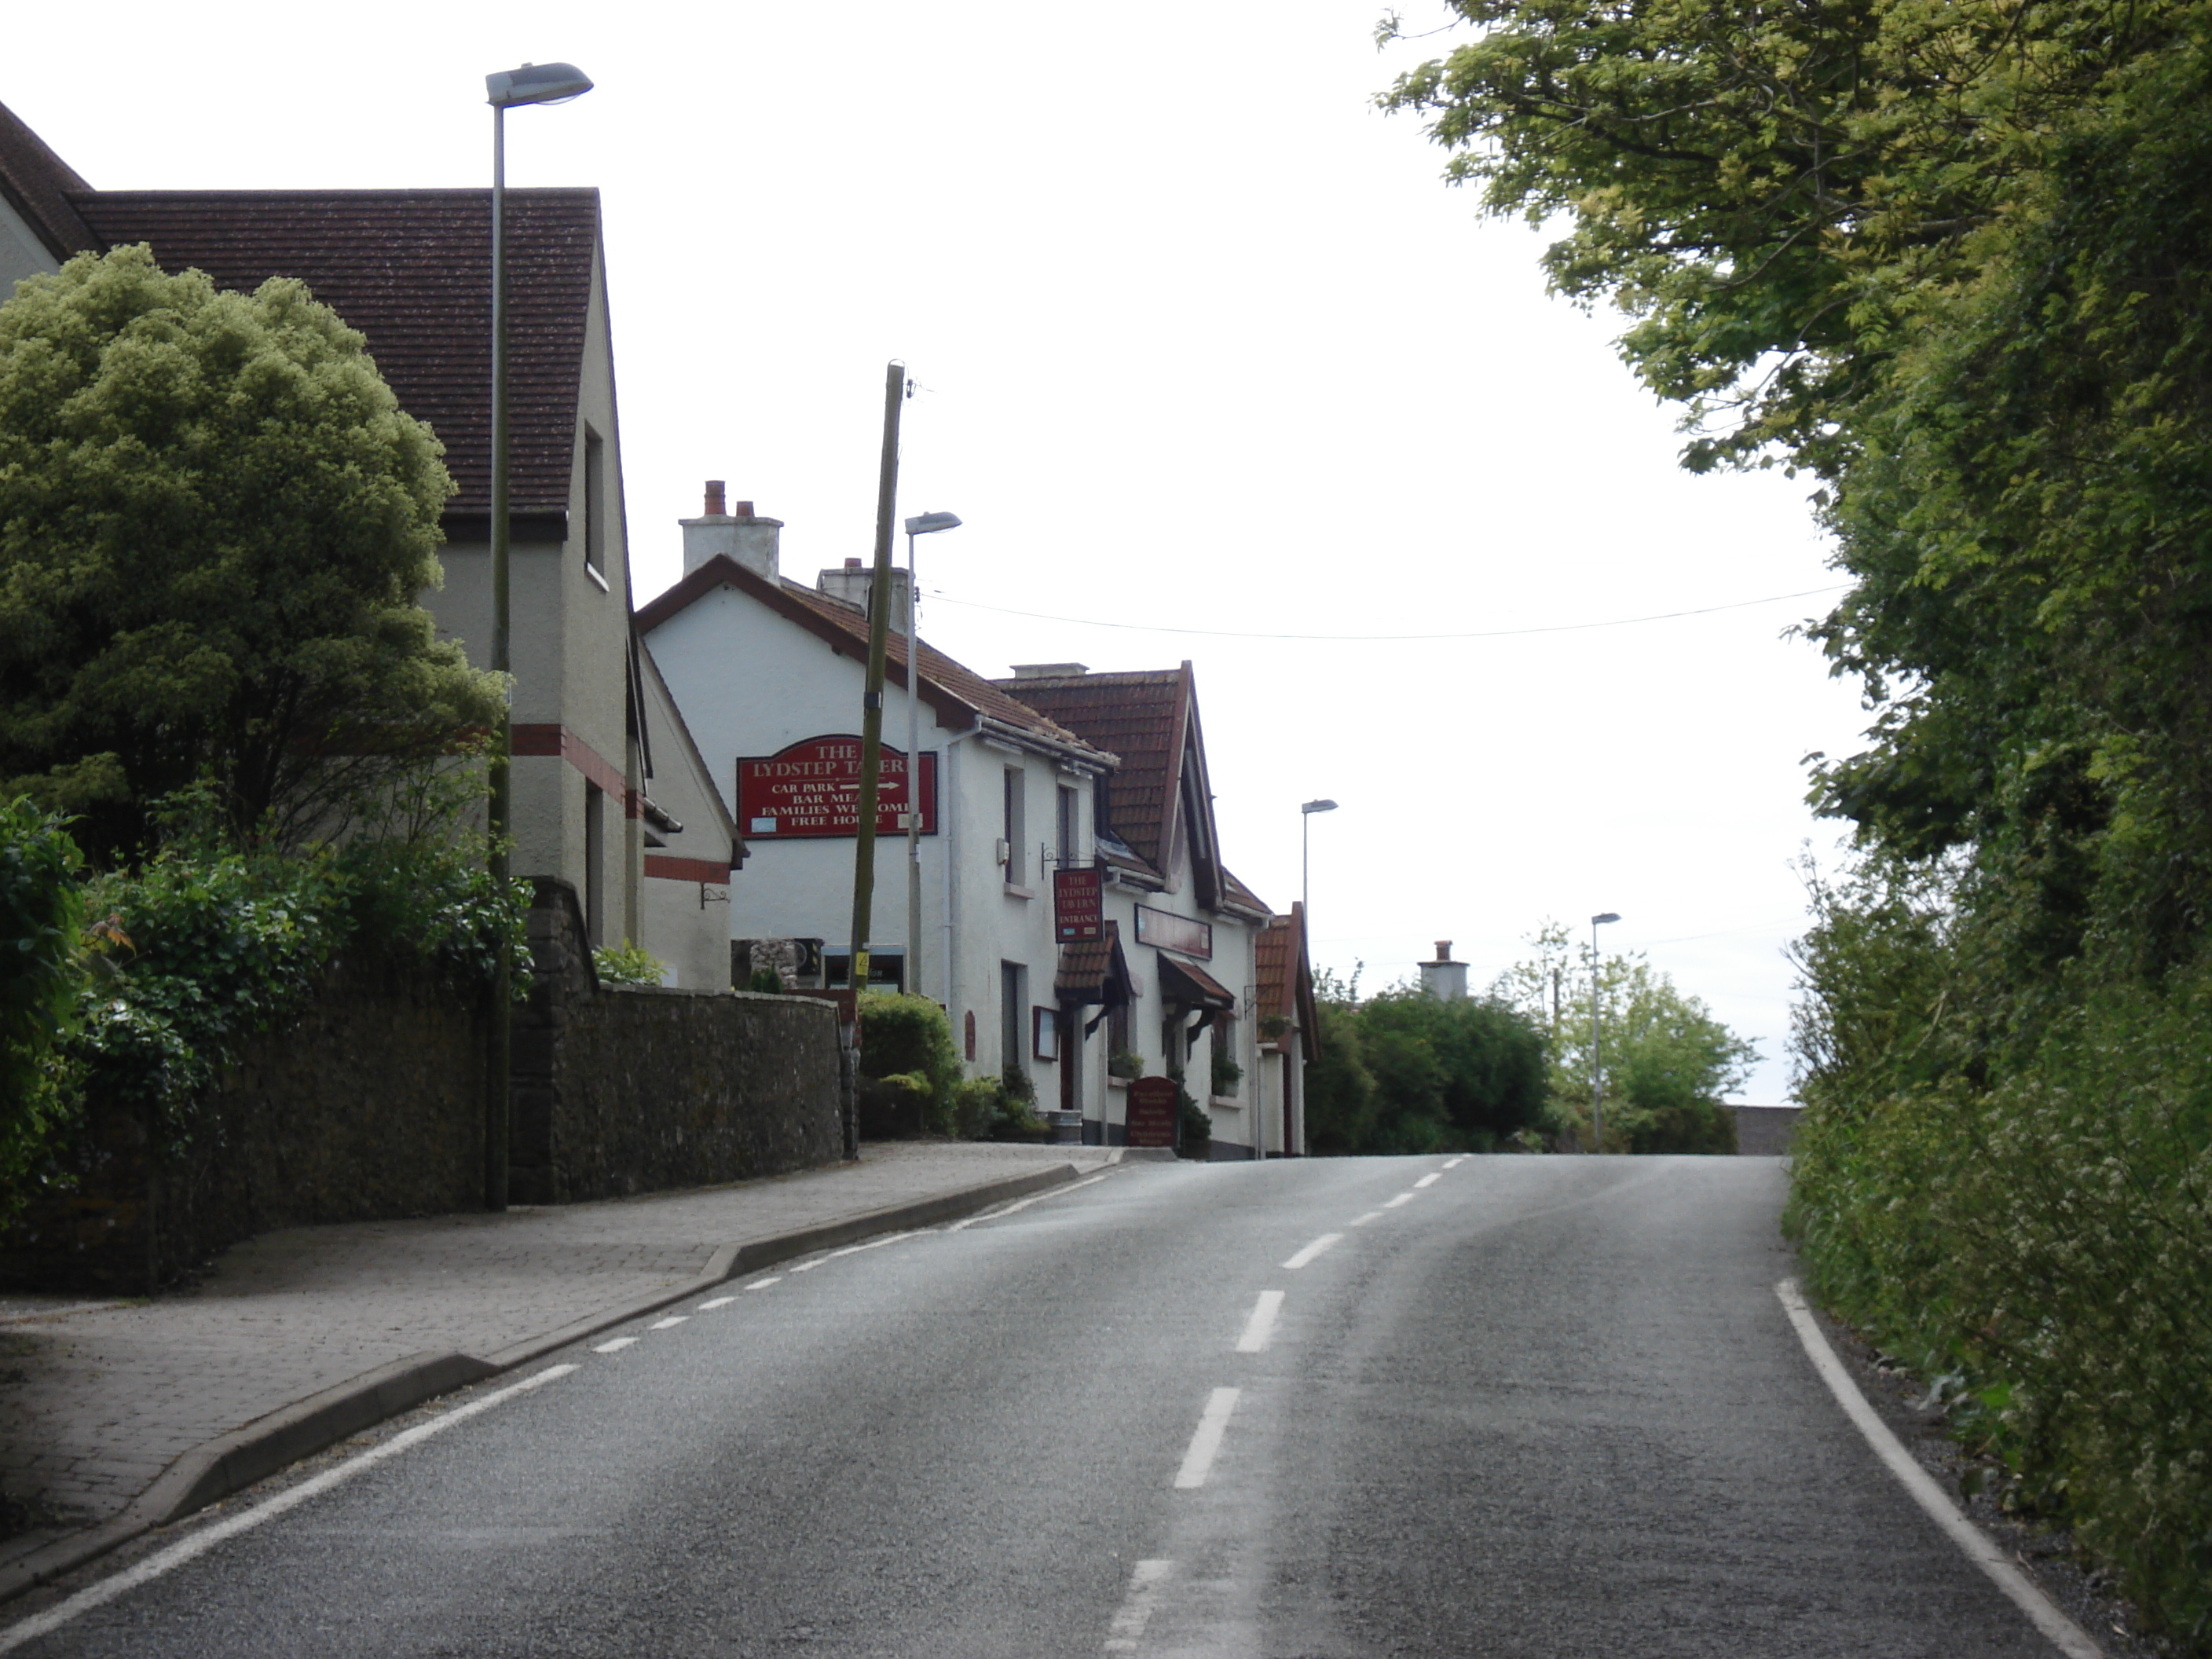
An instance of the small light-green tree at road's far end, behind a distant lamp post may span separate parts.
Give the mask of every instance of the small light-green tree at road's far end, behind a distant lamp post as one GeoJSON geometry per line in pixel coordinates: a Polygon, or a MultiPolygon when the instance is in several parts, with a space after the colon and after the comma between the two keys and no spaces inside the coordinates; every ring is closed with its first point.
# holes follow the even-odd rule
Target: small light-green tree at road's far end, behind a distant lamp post
{"type": "Polygon", "coordinates": [[[1546,1126],[1588,1144],[1593,1135],[1590,998],[1599,1006],[1608,1152],[1734,1152],[1736,1121],[1721,1097],[1759,1060],[1694,995],[1641,956],[1595,958],[1544,922],[1535,958],[1498,975],[1491,995],[1551,1029],[1546,1126]]]}

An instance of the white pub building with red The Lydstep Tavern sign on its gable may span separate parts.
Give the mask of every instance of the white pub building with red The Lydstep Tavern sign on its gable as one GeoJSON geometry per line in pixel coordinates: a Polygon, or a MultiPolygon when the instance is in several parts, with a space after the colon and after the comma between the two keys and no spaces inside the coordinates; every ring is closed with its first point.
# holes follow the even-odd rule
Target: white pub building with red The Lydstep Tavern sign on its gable
{"type": "MultiPolygon", "coordinates": [[[[681,526],[684,577],[637,626],[750,852],[732,984],[765,969],[845,987],[872,573],[783,577],[781,520],[730,511],[717,482],[681,526]]],[[[894,571],[869,984],[942,1004],[971,1075],[1020,1066],[1055,1139],[1128,1144],[1133,1077],[1177,1073],[1210,1157],[1303,1152],[1301,922],[1221,863],[1190,664],[993,681],[925,641],[909,768],[905,582],[894,571]]]]}

